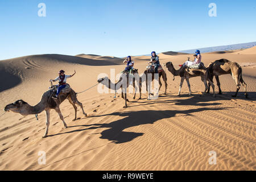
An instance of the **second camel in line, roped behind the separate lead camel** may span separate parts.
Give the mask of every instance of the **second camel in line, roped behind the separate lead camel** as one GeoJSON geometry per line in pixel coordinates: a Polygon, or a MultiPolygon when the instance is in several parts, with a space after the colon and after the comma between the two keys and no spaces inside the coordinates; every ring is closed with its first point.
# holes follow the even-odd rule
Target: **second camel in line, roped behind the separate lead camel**
{"type": "Polygon", "coordinates": [[[100,78],[98,79],[97,81],[105,86],[107,86],[109,89],[113,89],[115,90],[115,95],[117,93],[117,90],[119,88],[122,89],[122,98],[125,100],[125,106],[123,106],[123,108],[126,108],[127,107],[127,102],[129,102],[129,100],[127,99],[127,96],[126,96],[126,89],[129,87],[129,77],[130,79],[133,80],[133,87],[135,88],[135,93],[134,93],[134,97],[133,99],[135,99],[136,97],[136,92],[137,92],[137,89],[139,88],[139,98],[138,100],[141,99],[141,86],[139,84],[139,81],[138,81],[138,87],[135,86],[135,78],[133,75],[137,75],[139,76],[139,73],[138,73],[138,69],[133,69],[131,71],[131,74],[129,74],[129,72],[123,72],[122,75],[120,76],[119,80],[117,83],[113,84],[108,77],[105,77],[105,78],[100,78]],[[123,82],[123,78],[126,78],[126,82],[123,82]],[[123,90],[125,90],[124,92],[124,97],[123,97],[123,90]]]}

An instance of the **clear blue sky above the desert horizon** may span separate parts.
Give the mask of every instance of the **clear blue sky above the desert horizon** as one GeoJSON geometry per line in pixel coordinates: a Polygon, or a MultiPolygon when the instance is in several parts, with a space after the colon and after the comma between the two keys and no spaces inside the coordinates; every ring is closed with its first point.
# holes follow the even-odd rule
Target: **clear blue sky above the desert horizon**
{"type": "Polygon", "coordinates": [[[256,41],[255,0],[0,1],[0,60],[60,53],[127,56],[256,41]],[[38,4],[46,4],[46,17],[38,4]],[[217,17],[208,15],[216,3],[217,17]]]}

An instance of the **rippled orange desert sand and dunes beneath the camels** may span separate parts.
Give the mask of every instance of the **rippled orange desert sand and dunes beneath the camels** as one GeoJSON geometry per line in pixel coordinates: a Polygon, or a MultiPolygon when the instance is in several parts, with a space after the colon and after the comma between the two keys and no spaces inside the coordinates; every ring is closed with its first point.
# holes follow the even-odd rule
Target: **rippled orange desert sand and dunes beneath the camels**
{"type": "MultiPolygon", "coordinates": [[[[256,48],[205,53],[203,62],[228,59],[242,66],[249,98],[236,90],[230,75],[220,76],[222,95],[202,95],[200,77],[191,78],[192,96],[180,78],[167,71],[167,95],[160,90],[158,100],[133,100],[127,94],[123,108],[121,95],[100,94],[97,86],[81,93],[78,100],[88,117],[68,101],[61,104],[67,129],[52,110],[49,137],[42,138],[46,115],[26,117],[7,112],[0,117],[0,170],[255,170],[256,169],[256,48]],[[46,164],[38,164],[38,152],[46,152],[46,164]],[[217,163],[210,165],[209,152],[216,151],[217,163]]],[[[172,61],[175,68],[184,63],[183,53],[160,53],[160,63],[172,61]]],[[[143,73],[149,56],[136,56],[135,68],[143,73]]],[[[3,108],[22,99],[36,105],[60,69],[71,75],[68,83],[76,92],[97,84],[100,73],[110,76],[125,65],[123,59],[99,55],[33,55],[0,61],[0,114],[3,108]]],[[[112,80],[113,82],[117,80],[112,80]]],[[[214,80],[217,92],[216,80],[214,80]]],[[[138,98],[138,95],[137,95],[138,98]]]]}

